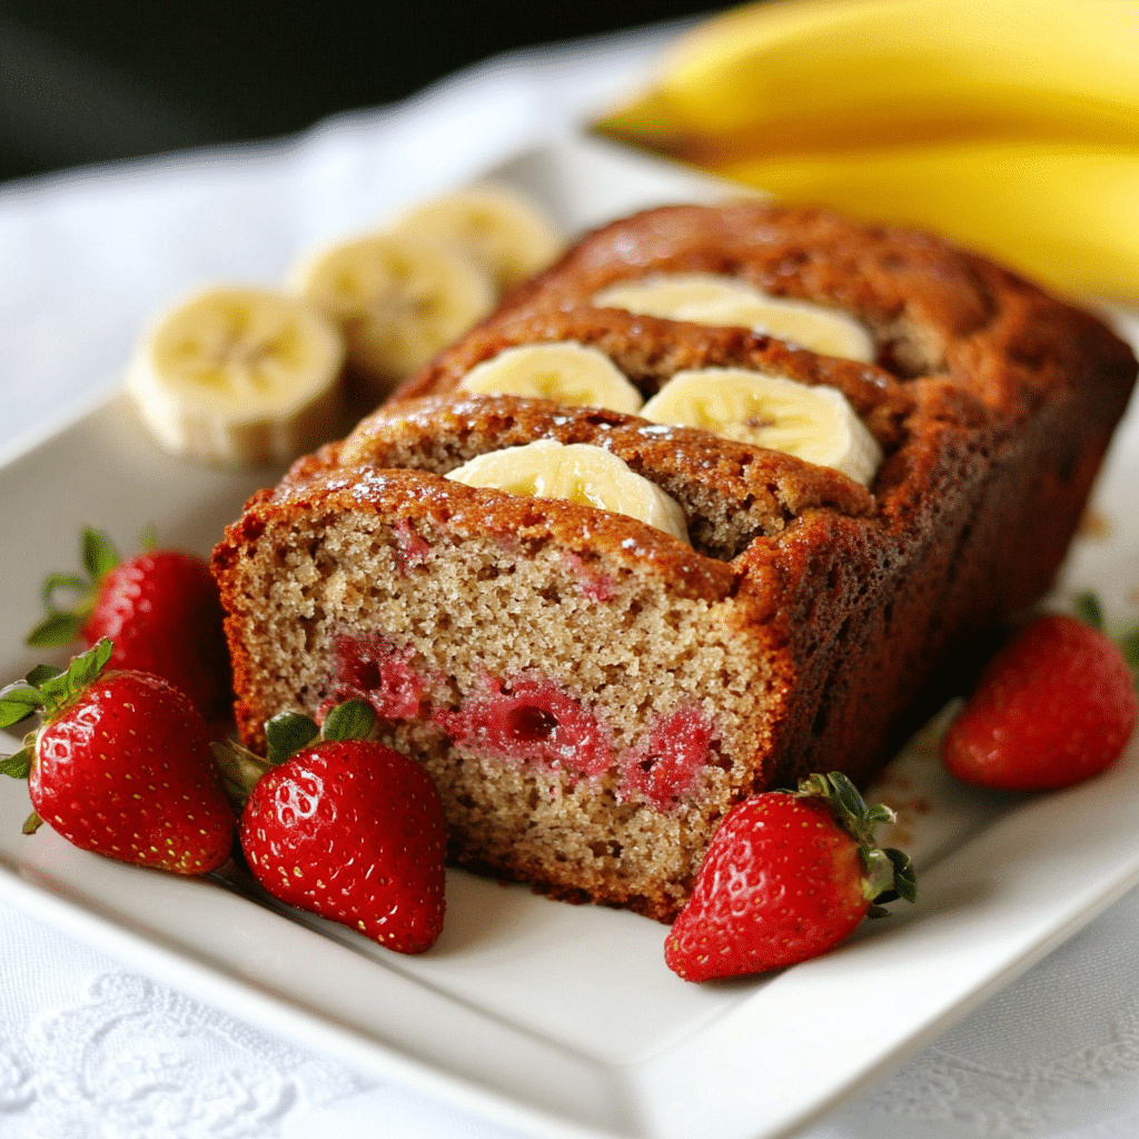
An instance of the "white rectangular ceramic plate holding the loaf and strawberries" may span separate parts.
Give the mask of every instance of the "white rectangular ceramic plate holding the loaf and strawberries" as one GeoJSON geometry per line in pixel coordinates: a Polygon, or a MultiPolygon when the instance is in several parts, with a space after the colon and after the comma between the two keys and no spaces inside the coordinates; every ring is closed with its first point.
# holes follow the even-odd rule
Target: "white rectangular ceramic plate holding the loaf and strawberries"
{"type": "MultiPolygon", "coordinates": [[[[491,173],[539,194],[570,229],[721,192],[580,140],[491,173]]],[[[9,518],[28,519],[7,543],[0,681],[41,658],[22,638],[43,575],[74,566],[82,524],[126,546],[153,521],[164,543],[205,554],[277,474],[169,458],[122,399],[0,469],[9,518]]],[[[1105,525],[1065,576],[1098,590],[1117,620],[1134,614],[1139,584],[1136,485],[1132,416],[1097,492],[1105,525]]],[[[1083,786],[1008,800],[953,786],[919,741],[885,790],[902,809],[895,841],[924,866],[918,904],[816,961],[703,986],[665,968],[663,926],[458,871],[443,937],[401,958],[254,904],[237,872],[183,880],[85,854],[48,828],[25,837],[26,790],[7,779],[0,896],[238,1016],[534,1134],[757,1139],[803,1126],[900,1063],[1139,880],[1134,744],[1083,786]]]]}

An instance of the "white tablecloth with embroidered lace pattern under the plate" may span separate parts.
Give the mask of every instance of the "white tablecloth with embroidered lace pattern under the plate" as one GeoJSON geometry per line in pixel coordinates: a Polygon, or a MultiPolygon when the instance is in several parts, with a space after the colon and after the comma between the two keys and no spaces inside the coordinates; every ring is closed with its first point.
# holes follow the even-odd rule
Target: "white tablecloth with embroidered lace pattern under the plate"
{"type": "MultiPolygon", "coordinates": [[[[571,129],[636,84],[666,34],[511,56],[279,145],[0,189],[0,457],[101,400],[172,297],[211,280],[276,282],[297,251],[571,129]]],[[[1137,929],[1132,893],[806,1134],[1139,1134],[1137,929]]],[[[268,1035],[2,903],[0,961],[3,1139],[514,1134],[268,1035]]],[[[867,994],[868,1015],[886,995],[867,994]]]]}

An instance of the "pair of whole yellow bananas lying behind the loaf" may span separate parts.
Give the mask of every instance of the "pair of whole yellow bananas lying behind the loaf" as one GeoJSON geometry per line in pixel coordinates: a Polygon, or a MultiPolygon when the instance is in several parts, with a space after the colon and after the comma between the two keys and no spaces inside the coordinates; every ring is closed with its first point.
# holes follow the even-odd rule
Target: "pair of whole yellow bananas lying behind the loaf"
{"type": "Polygon", "coordinates": [[[604,133],[1139,298],[1137,0],[773,0],[682,36],[604,133]]]}

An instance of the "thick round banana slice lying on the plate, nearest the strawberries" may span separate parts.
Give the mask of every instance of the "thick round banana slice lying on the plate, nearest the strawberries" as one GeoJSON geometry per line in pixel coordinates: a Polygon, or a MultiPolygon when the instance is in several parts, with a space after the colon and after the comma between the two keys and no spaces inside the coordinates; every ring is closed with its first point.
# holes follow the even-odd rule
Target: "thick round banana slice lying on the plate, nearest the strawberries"
{"type": "Polygon", "coordinates": [[[213,288],[164,313],[139,343],[128,391],[173,454],[287,461],[339,427],[344,343],[293,297],[213,288]]]}

